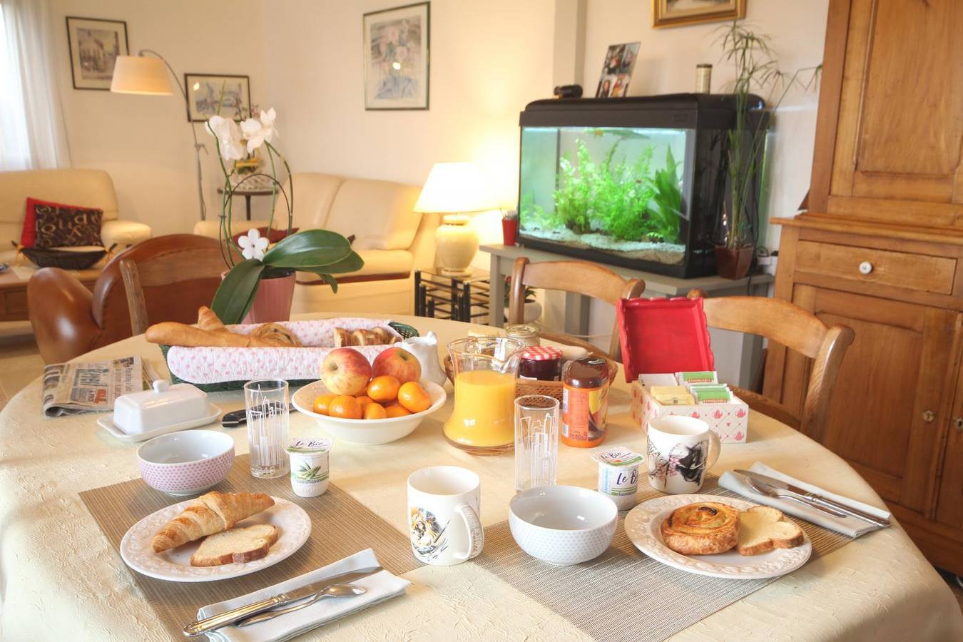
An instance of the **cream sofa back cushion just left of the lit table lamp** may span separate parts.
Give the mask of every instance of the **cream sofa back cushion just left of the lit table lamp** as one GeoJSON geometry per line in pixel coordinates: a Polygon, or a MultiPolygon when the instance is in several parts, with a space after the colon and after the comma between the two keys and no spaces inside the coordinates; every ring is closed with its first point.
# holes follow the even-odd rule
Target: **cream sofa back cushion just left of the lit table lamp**
{"type": "Polygon", "coordinates": [[[407,249],[420,214],[411,211],[418,188],[389,181],[347,179],[331,203],[325,228],[357,237],[356,250],[407,249]]]}

